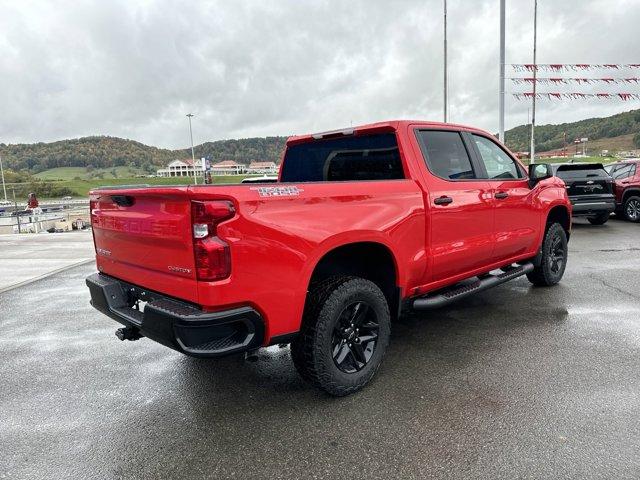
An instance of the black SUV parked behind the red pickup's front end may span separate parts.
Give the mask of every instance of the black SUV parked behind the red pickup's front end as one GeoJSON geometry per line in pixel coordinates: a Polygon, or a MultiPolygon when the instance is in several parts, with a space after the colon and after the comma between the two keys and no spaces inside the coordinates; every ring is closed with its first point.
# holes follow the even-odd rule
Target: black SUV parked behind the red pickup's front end
{"type": "Polygon", "coordinates": [[[557,163],[554,174],[567,186],[574,217],[593,225],[605,224],[616,208],[613,180],[601,163],[557,163]]]}

